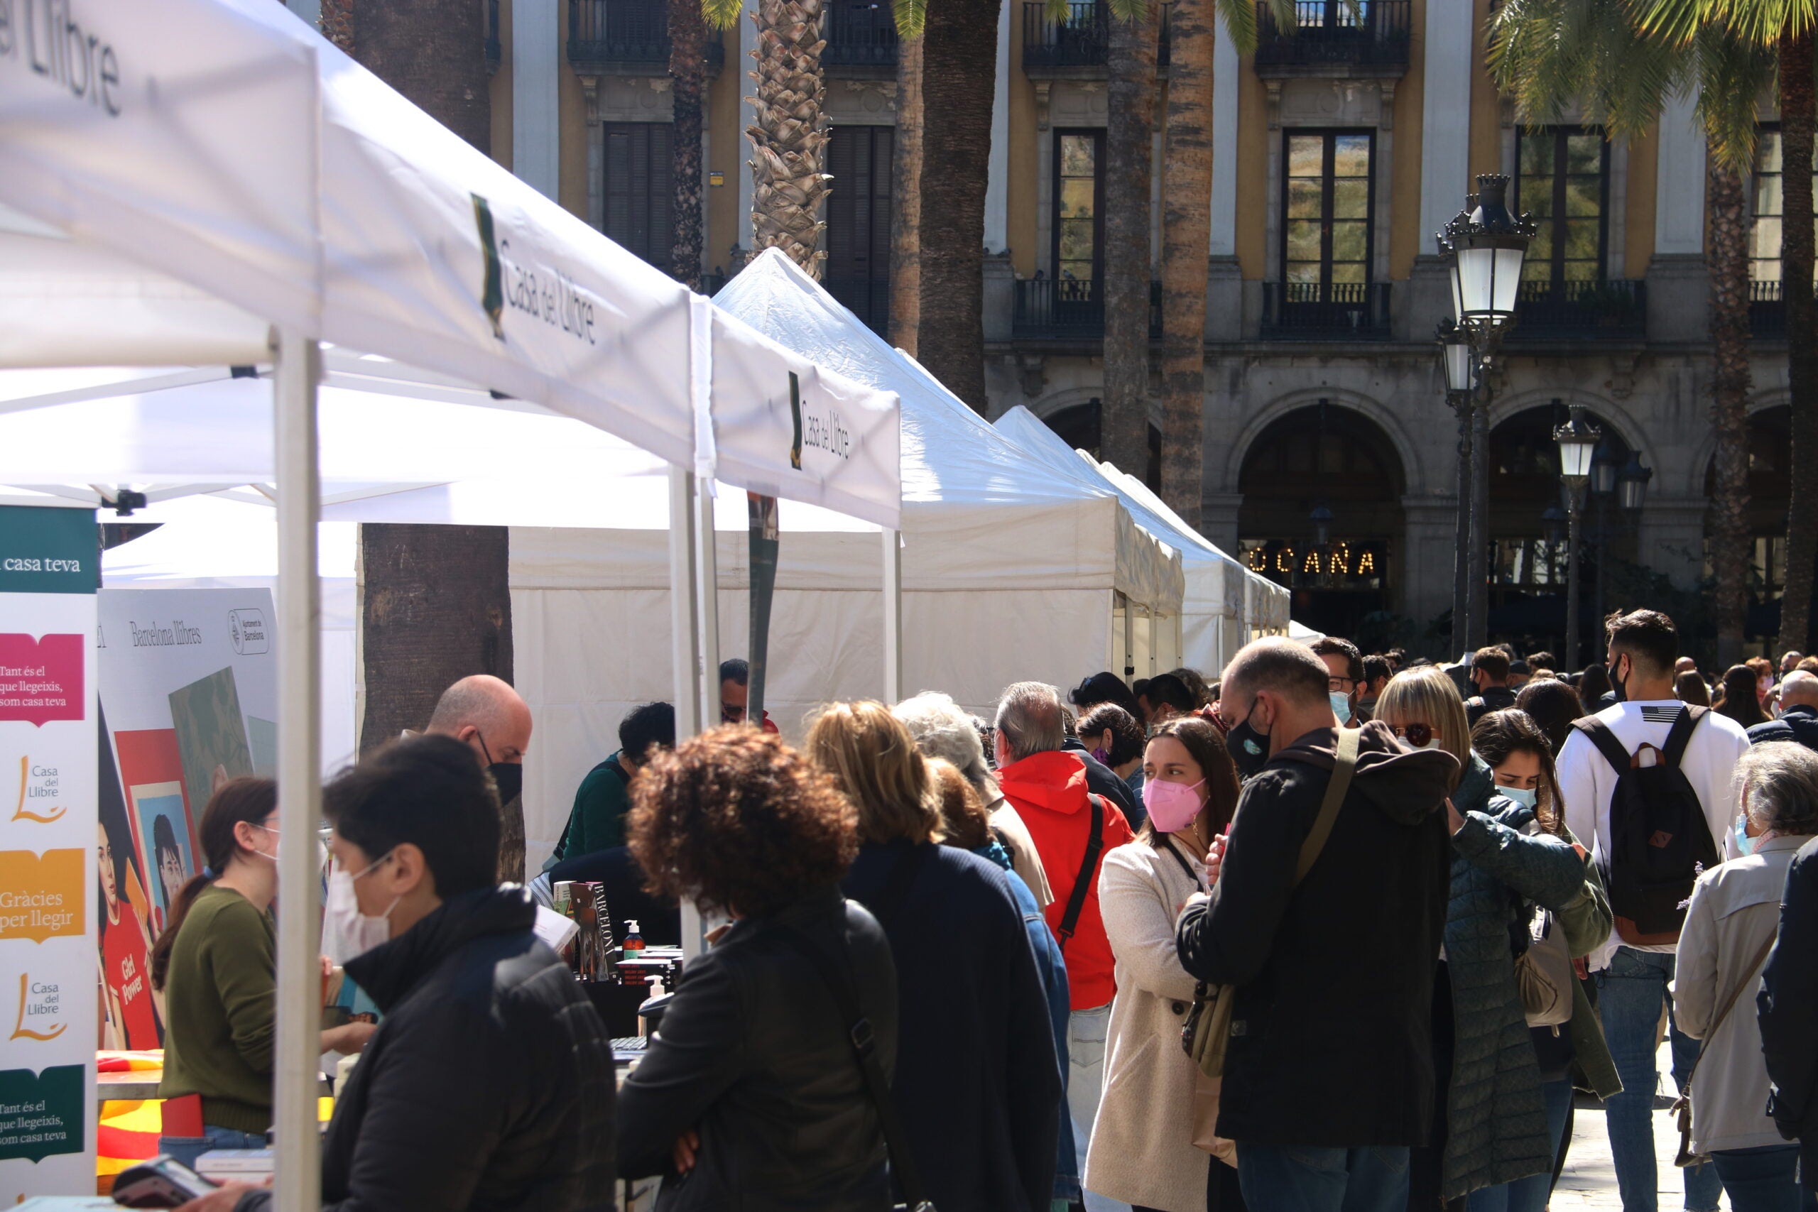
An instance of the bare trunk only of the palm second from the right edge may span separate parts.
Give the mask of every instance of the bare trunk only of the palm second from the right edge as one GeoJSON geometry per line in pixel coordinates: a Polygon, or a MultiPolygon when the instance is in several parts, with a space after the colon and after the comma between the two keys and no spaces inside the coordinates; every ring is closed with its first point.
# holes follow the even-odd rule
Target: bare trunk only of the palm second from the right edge
{"type": "MultiPolygon", "coordinates": [[[[1749,224],[1742,174],[1711,154],[1711,427],[1716,492],[1711,498],[1711,567],[1716,572],[1716,661],[1742,660],[1749,576],[1749,224]]],[[[1807,287],[1809,289],[1809,287],[1807,287]]]]}

